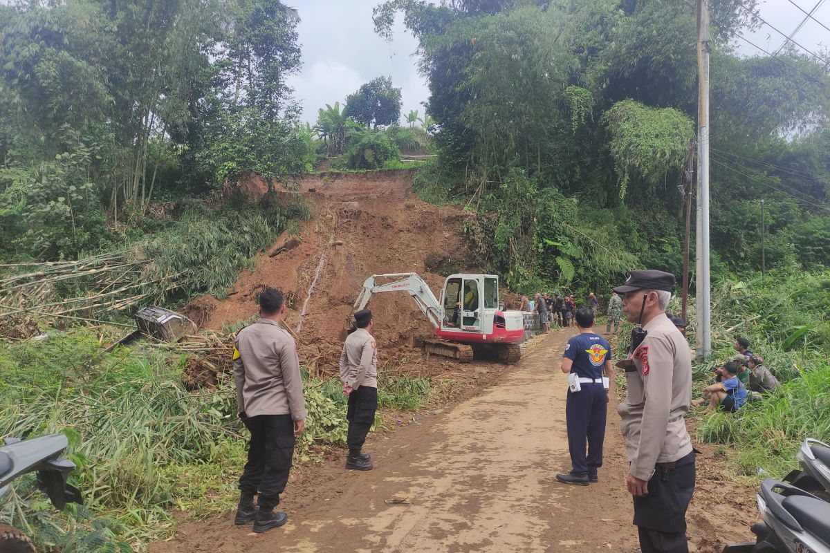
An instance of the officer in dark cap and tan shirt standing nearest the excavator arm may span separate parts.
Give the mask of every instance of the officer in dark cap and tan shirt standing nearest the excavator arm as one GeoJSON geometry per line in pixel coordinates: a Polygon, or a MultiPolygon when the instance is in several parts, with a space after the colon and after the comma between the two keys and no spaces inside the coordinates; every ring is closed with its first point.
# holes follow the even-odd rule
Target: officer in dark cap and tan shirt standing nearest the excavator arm
{"type": "Polygon", "coordinates": [[[372,470],[371,456],[360,452],[374,423],[374,412],[378,410],[378,344],[369,334],[372,312],[361,309],[354,313],[354,326],[357,330],[346,338],[340,353],[340,381],[343,393],[349,396],[346,468],[372,470]]]}

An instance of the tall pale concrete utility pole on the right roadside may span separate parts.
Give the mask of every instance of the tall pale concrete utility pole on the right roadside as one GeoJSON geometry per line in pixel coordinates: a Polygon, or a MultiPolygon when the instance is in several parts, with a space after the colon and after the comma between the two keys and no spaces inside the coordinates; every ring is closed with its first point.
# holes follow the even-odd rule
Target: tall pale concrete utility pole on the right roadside
{"type": "Polygon", "coordinates": [[[709,300],[709,6],[697,0],[697,357],[712,352],[709,300]]]}

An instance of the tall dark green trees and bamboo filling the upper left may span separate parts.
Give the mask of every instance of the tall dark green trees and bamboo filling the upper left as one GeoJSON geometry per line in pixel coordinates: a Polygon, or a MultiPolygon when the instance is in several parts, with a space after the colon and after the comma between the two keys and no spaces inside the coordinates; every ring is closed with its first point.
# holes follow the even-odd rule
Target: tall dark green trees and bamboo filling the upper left
{"type": "Polygon", "coordinates": [[[2,248],[74,257],[154,197],[310,170],[296,23],[278,0],[0,6],[2,248]]]}

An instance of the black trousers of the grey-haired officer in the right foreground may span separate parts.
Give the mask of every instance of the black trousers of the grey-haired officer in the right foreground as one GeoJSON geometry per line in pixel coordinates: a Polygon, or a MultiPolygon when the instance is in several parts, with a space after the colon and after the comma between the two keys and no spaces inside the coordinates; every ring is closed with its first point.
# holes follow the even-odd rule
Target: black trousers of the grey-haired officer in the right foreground
{"type": "Polygon", "coordinates": [[[642,553],[688,553],[686,509],[694,492],[694,452],[678,459],[674,468],[657,467],[648,481],[648,495],[634,497],[642,553]]]}

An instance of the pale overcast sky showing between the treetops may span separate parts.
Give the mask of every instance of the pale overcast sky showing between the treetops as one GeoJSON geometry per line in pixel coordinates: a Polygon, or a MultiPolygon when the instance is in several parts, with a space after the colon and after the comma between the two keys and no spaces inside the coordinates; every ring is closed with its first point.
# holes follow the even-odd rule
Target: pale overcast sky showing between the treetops
{"type": "MultiPolygon", "coordinates": [[[[813,17],[830,27],[830,2],[793,2],[807,12],[821,3],[813,17]]],[[[393,83],[403,89],[402,114],[417,109],[423,117],[422,102],[426,101],[429,91],[418,75],[417,59],[413,56],[417,41],[405,31],[401,17],[398,17],[394,40],[387,42],[374,32],[372,8],[378,0],[286,0],[286,4],[300,12],[297,30],[303,67],[299,75],[291,77],[290,83],[302,106],[304,121],[314,124],[317,109],[335,101],[343,104],[347,95],[380,75],[392,75],[393,83]]],[[[763,2],[760,15],[788,35],[805,17],[789,0],[763,2]]],[[[775,51],[784,41],[784,36],[765,25],[747,38],[767,51],[775,51]]],[[[816,52],[819,47],[830,46],[830,32],[808,20],[793,40],[816,52]]],[[[752,46],[743,41],[738,43],[745,54],[755,53],[752,46]]]]}

